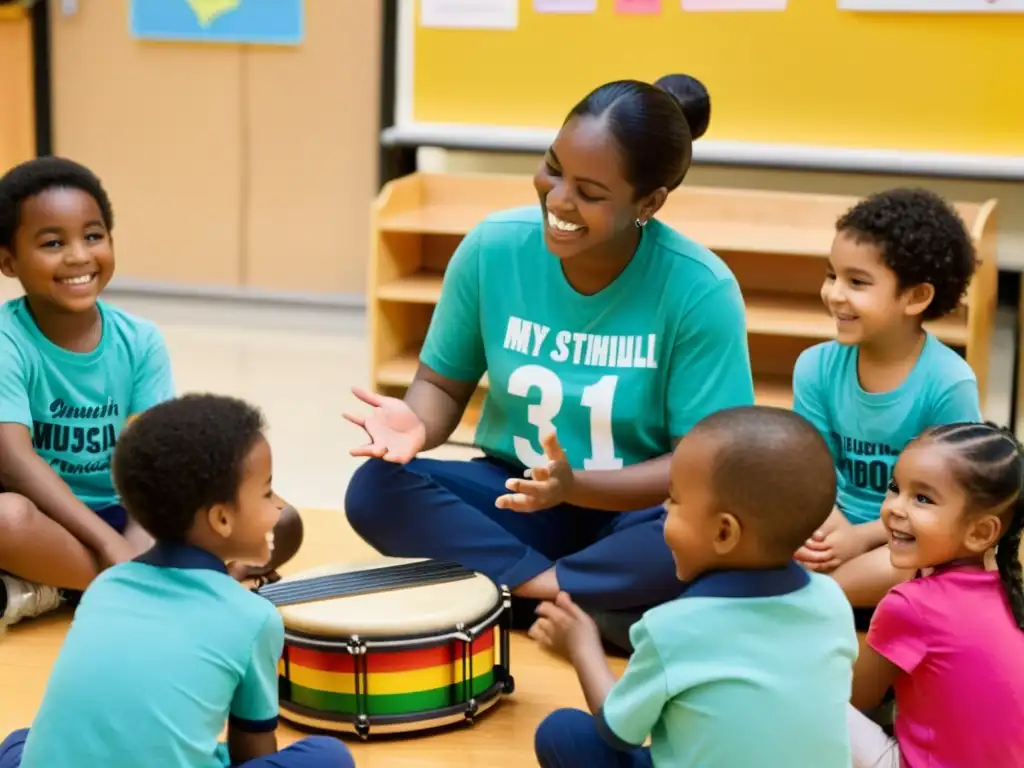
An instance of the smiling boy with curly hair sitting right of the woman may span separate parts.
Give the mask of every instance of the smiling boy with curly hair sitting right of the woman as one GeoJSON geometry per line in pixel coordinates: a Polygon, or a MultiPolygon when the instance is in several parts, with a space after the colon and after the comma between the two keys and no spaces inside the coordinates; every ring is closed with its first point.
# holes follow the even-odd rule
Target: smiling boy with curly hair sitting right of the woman
{"type": "Polygon", "coordinates": [[[926,189],[870,196],[840,217],[821,300],[835,341],[805,350],[794,410],[814,424],[835,461],[837,507],[797,558],[839,582],[858,629],[891,587],[880,519],[896,458],[928,427],[981,421],[967,361],[924,324],[956,310],[975,249],[955,210],[926,189]]]}

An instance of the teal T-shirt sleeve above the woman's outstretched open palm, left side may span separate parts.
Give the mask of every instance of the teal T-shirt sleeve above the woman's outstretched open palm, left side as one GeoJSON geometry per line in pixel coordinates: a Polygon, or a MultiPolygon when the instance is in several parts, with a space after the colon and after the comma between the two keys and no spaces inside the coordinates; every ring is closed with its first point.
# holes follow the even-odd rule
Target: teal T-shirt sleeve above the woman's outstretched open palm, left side
{"type": "Polygon", "coordinates": [[[457,381],[479,381],[487,370],[480,317],[480,240],[479,229],[473,229],[452,255],[420,352],[425,366],[457,381]]]}

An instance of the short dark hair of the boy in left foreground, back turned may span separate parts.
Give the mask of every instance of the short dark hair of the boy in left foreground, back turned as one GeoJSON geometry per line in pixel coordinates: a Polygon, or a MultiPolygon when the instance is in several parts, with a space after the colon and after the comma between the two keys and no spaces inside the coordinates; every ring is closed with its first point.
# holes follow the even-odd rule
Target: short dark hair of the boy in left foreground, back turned
{"type": "Polygon", "coordinates": [[[184,541],[197,512],[236,501],[264,426],[259,410],[216,394],[143,412],[114,451],[114,484],[128,514],[158,541],[184,541]]]}

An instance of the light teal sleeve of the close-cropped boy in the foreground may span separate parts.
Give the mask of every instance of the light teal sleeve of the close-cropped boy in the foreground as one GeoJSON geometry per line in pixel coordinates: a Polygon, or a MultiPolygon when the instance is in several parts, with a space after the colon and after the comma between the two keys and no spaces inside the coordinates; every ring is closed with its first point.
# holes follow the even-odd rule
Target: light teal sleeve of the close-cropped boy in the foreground
{"type": "Polygon", "coordinates": [[[665,667],[642,618],[631,628],[630,642],[633,655],[626,672],[597,713],[601,735],[621,750],[643,744],[669,701],[665,667]]]}

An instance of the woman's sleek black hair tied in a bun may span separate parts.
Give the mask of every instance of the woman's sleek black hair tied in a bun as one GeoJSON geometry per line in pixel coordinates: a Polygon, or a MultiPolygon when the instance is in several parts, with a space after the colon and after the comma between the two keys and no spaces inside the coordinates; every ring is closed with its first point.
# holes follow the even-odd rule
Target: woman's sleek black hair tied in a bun
{"type": "Polygon", "coordinates": [[[574,117],[604,118],[622,150],[636,197],[659,186],[672,191],[686,177],[693,141],[708,130],[711,96],[696,78],[666,75],[654,85],[639,80],[605,83],[572,110],[574,117]]]}

